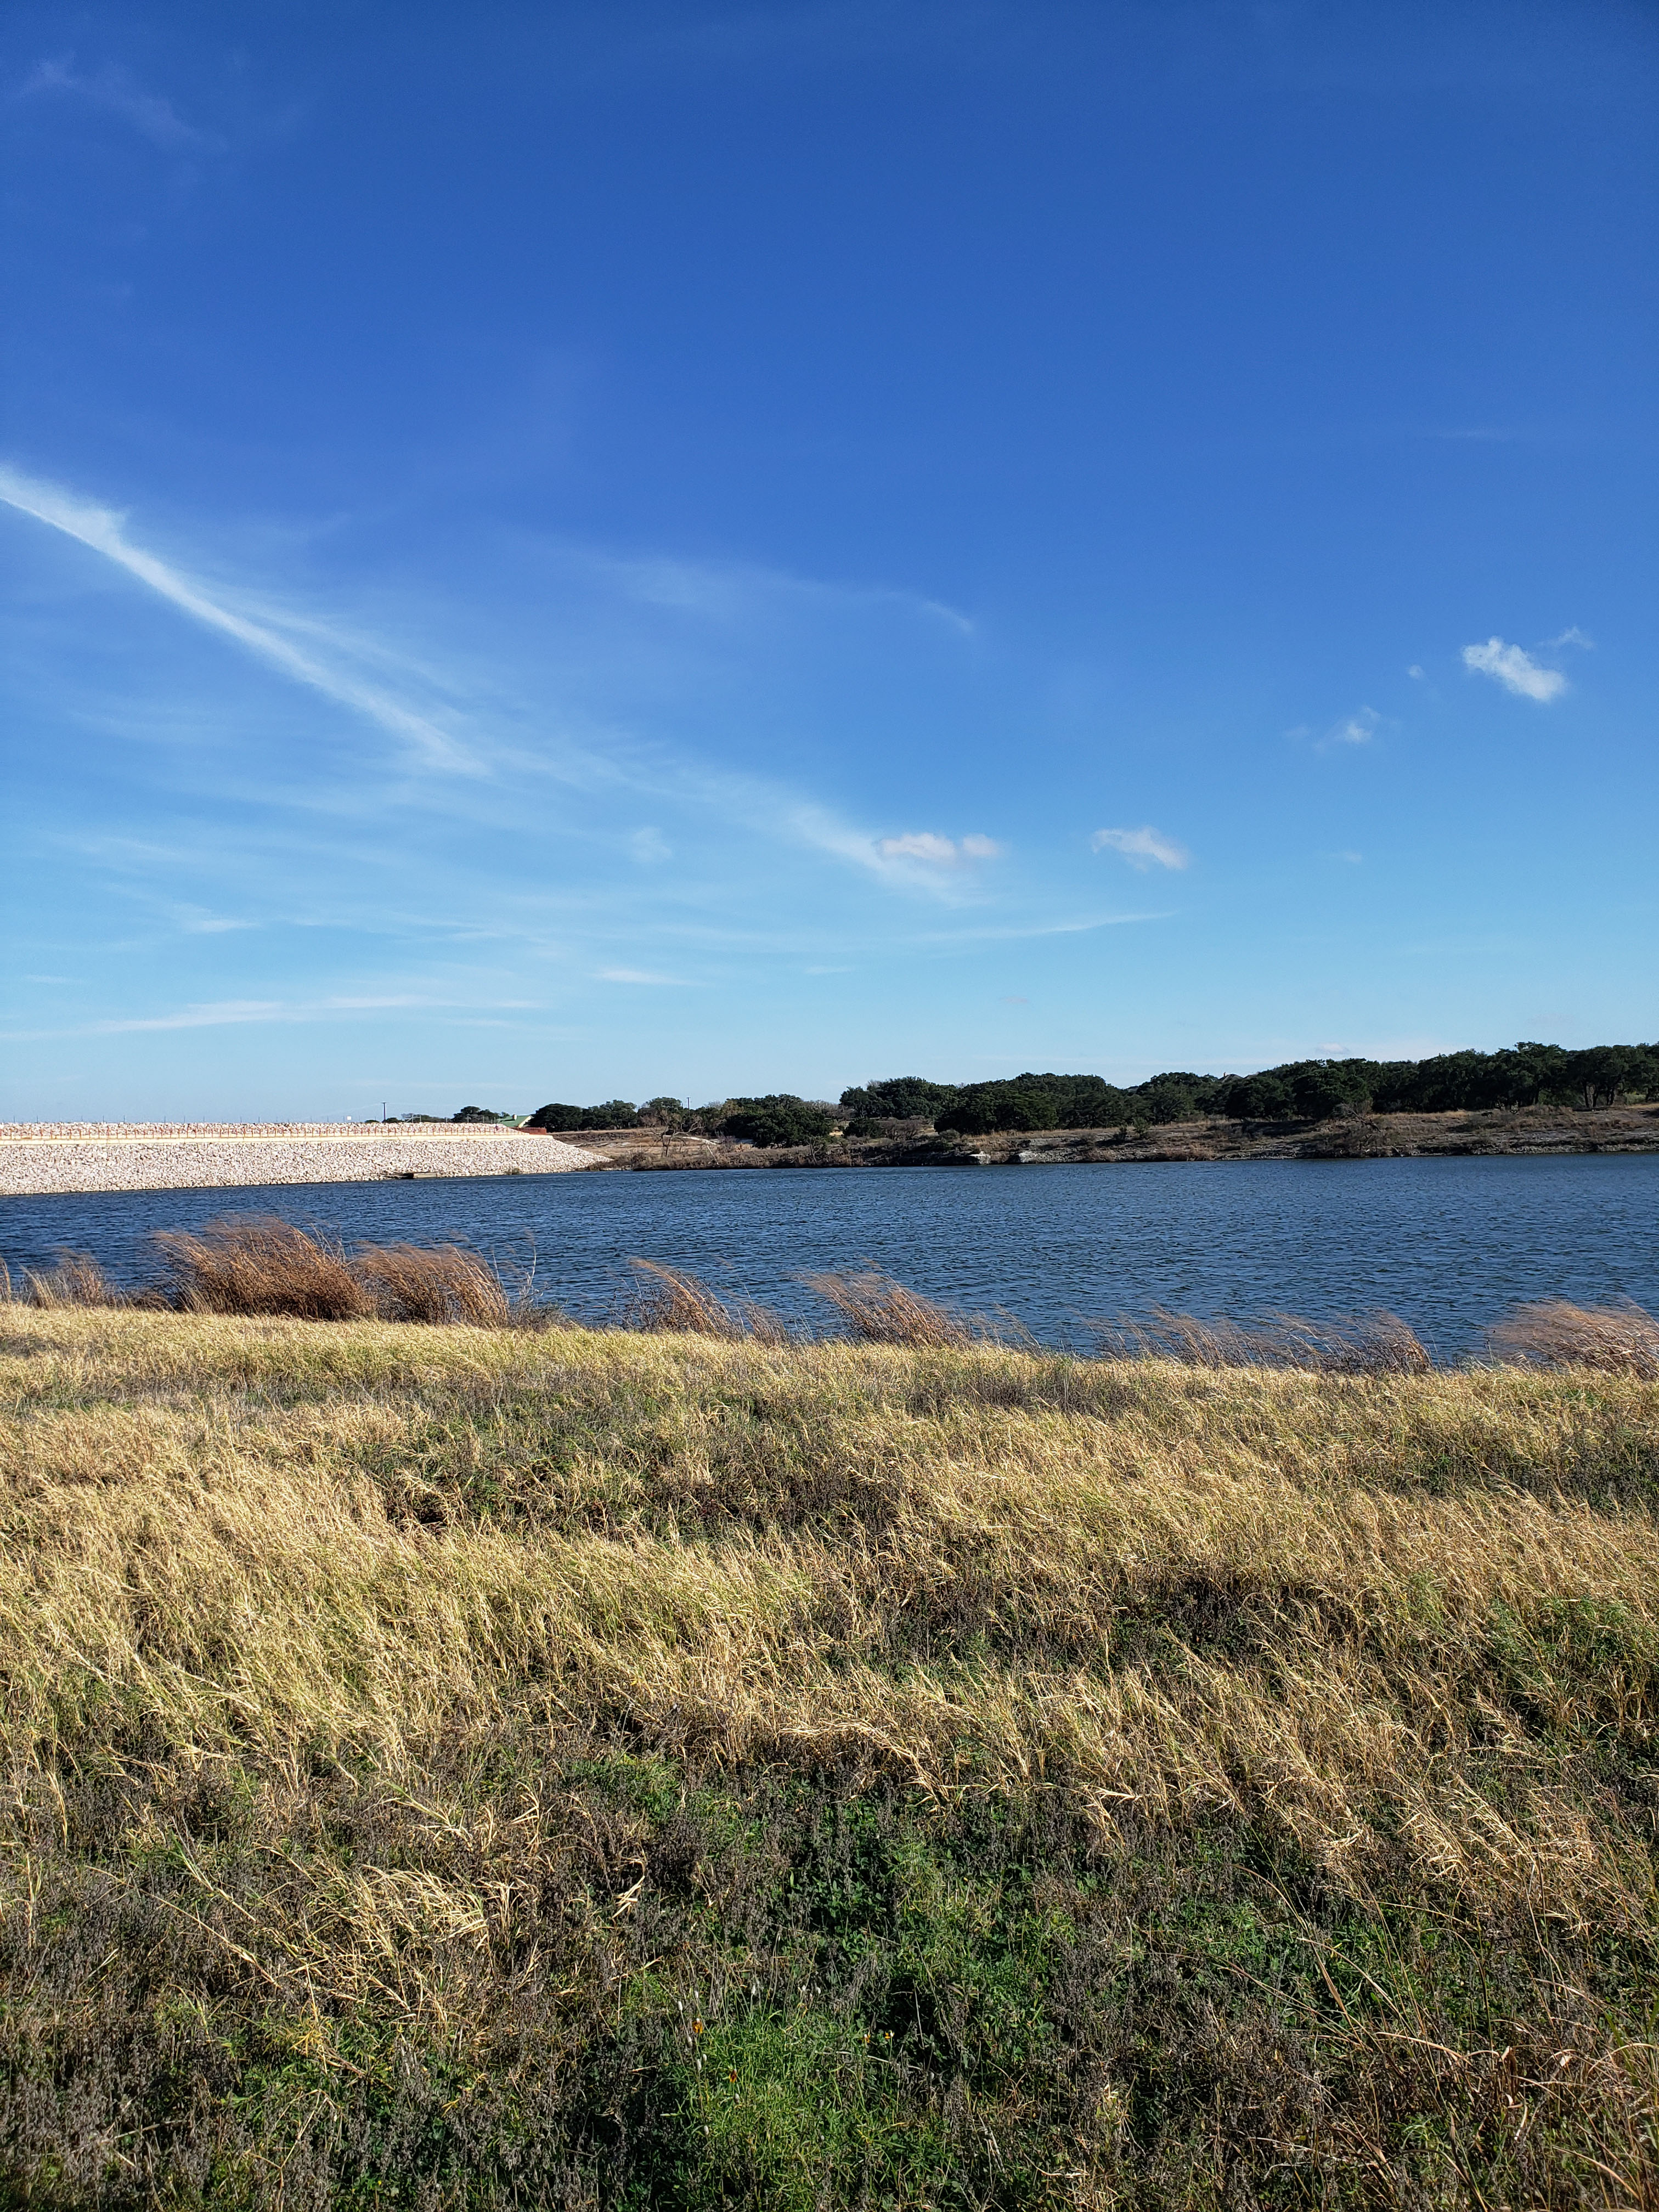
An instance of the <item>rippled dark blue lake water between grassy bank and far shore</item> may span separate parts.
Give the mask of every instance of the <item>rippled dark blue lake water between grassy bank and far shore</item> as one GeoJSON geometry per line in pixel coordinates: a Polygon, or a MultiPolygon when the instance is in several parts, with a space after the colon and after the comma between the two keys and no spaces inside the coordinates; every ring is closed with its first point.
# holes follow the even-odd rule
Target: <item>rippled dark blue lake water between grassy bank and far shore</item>
{"type": "Polygon", "coordinates": [[[535,1254],[535,1294],[591,1321],[626,1298],[628,1259],[666,1261],[792,1316],[796,1276],[876,1265],[911,1290],[1000,1307],[1051,1343],[1091,1316],[1170,1305],[1389,1307],[1442,1356],[1524,1298],[1637,1298],[1659,1312],[1659,1157],[1234,1161],[1225,1166],[801,1168],[538,1175],[263,1190],[0,1199],[0,1256],[97,1254],[153,1279],[148,1237],[272,1212],[354,1239],[462,1237],[535,1254]]]}

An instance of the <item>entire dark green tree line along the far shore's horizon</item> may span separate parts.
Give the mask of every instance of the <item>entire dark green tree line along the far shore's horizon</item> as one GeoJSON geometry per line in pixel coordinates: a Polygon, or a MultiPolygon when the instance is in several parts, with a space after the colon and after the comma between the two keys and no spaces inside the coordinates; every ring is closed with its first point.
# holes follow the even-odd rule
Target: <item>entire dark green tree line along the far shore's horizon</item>
{"type": "MultiPolygon", "coordinates": [[[[785,1091],[684,1106],[672,1097],[606,1099],[599,1106],[540,1106],[531,1128],[661,1128],[748,1144],[816,1144],[847,1137],[984,1137],[1033,1128],[1155,1128],[1168,1121],[1325,1121],[1343,1113],[1460,1113],[1493,1106],[1617,1106],[1659,1097],[1659,1044],[1509,1044],[1495,1053],[1431,1060],[1287,1060],[1256,1075],[1194,1075],[1172,1068],[1144,1084],[1099,1075],[1009,1075],[984,1084],[938,1084],[889,1075],[854,1084],[832,1106],[785,1091]]],[[[480,1108],[469,1108],[480,1115],[480,1108]]],[[[480,1115],[482,1117],[482,1115],[480,1115]]],[[[458,1115],[460,1119],[460,1115],[458,1115]]]]}

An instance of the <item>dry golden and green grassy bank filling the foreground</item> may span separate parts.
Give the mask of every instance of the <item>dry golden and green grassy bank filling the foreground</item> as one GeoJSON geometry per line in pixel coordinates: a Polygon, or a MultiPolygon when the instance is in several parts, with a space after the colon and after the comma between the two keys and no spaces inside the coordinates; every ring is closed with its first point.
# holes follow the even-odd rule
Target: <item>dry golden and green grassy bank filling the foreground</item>
{"type": "Polygon", "coordinates": [[[1659,1385],[0,1310],[0,2197],[1639,2205],[1659,1385]]]}

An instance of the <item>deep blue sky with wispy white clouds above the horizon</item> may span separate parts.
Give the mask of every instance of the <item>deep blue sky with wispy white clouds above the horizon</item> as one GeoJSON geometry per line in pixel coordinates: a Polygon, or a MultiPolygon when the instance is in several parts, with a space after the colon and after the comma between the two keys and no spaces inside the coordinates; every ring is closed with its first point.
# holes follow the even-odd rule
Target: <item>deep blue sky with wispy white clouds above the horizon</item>
{"type": "Polygon", "coordinates": [[[1659,13],[31,7],[4,1117],[1652,1037],[1659,13]]]}

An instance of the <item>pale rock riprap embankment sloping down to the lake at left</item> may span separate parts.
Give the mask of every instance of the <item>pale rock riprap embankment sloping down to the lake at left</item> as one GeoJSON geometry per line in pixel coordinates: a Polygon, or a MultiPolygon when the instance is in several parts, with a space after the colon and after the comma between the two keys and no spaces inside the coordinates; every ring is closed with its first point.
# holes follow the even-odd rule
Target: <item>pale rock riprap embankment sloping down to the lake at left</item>
{"type": "Polygon", "coordinates": [[[568,1175],[593,1152],[513,1128],[378,1121],[0,1124],[0,1197],[71,1190],[234,1190],[246,1183],[378,1183],[429,1175],[568,1175]]]}

